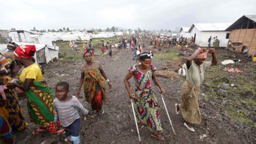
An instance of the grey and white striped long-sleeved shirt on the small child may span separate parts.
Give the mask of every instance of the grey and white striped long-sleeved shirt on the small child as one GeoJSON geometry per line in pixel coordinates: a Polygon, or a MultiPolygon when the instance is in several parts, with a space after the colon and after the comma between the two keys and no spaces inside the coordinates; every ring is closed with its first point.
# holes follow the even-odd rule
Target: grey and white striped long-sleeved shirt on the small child
{"type": "Polygon", "coordinates": [[[82,106],[81,102],[75,96],[72,96],[68,101],[60,101],[55,98],[53,100],[53,107],[55,110],[54,122],[58,122],[59,120],[60,125],[63,127],[69,126],[79,118],[77,109],[81,110],[83,115],[89,113],[89,111],[82,106]]]}

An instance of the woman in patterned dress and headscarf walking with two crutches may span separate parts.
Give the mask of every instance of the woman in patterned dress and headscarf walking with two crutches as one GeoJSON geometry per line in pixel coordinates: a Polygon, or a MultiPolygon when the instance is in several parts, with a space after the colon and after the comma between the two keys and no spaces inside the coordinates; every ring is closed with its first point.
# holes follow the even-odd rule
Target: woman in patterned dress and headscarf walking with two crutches
{"type": "Polygon", "coordinates": [[[156,68],[151,65],[152,58],[153,53],[151,51],[140,53],[140,64],[133,65],[128,70],[129,73],[125,76],[124,83],[130,99],[134,100],[134,110],[139,123],[148,128],[151,132],[151,137],[164,140],[164,137],[160,135],[163,132],[159,117],[160,106],[157,103],[153,87],[151,86],[152,80],[159,87],[162,94],[165,91],[154,75],[156,68]],[[131,92],[128,81],[132,76],[135,81],[134,94],[131,92]]]}

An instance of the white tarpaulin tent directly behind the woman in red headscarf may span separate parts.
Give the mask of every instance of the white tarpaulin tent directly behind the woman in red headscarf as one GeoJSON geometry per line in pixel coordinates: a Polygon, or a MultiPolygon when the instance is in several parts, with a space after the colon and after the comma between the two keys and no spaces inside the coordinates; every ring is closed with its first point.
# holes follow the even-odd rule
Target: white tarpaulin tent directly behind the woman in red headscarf
{"type": "MultiPolygon", "coordinates": [[[[15,42],[18,45],[35,45],[36,46],[36,53],[35,53],[35,60],[36,63],[48,63],[54,58],[59,58],[59,46],[52,46],[52,45],[45,45],[45,44],[32,44],[32,43],[20,43],[15,42]]],[[[7,44],[5,47],[2,45],[0,46],[1,53],[7,51],[7,44]]]]}

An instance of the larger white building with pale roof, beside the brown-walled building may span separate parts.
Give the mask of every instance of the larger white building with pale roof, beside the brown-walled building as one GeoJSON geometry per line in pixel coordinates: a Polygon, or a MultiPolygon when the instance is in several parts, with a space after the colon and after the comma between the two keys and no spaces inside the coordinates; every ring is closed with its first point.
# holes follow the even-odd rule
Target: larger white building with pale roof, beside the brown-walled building
{"type": "Polygon", "coordinates": [[[218,37],[220,41],[220,45],[222,47],[226,47],[228,44],[227,35],[230,31],[226,31],[226,29],[232,23],[194,23],[190,29],[190,37],[195,37],[195,44],[198,46],[208,46],[208,39],[212,36],[211,46],[213,43],[213,37],[218,37]]]}

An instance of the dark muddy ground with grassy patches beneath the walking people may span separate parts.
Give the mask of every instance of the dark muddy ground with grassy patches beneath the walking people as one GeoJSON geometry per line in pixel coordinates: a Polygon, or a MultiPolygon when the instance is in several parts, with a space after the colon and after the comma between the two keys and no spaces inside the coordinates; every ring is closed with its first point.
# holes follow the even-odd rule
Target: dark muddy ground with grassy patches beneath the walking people
{"type": "MultiPolygon", "coordinates": [[[[169,47],[164,48],[157,54],[161,55],[170,52],[170,50],[172,50],[171,52],[180,52],[180,49],[177,47],[169,47]]],[[[81,56],[82,50],[71,52],[70,50],[61,49],[60,52],[77,55],[78,59],[70,60],[64,58],[45,65],[44,80],[51,86],[53,93],[55,84],[60,81],[66,81],[70,84],[69,94],[75,95],[80,78],[79,67],[85,62],[81,56]]],[[[187,53],[192,52],[193,51],[191,50],[187,51],[187,53]]],[[[198,126],[194,126],[196,132],[188,131],[187,128],[183,126],[182,116],[176,115],[174,111],[174,103],[181,102],[181,85],[185,81],[185,78],[178,77],[170,80],[158,77],[160,83],[166,90],[164,99],[177,135],[172,133],[171,125],[163,106],[163,101],[157,91],[157,87],[154,86],[158,103],[162,106],[160,114],[163,137],[165,139],[164,141],[159,141],[152,138],[145,127],[140,127],[141,143],[256,142],[256,111],[254,103],[256,86],[255,62],[251,62],[243,54],[236,54],[224,49],[218,49],[217,54],[219,65],[206,71],[205,82],[201,89],[199,106],[201,108],[202,123],[198,126]],[[234,55],[235,58],[243,58],[243,61],[238,66],[239,69],[245,71],[242,74],[233,75],[222,70],[223,67],[228,66],[222,66],[220,62],[228,59],[228,57],[234,57],[234,55]],[[233,87],[228,87],[226,91],[220,91],[218,85],[224,83],[225,78],[229,79],[229,84],[235,83],[238,90],[241,88],[239,88],[239,85],[244,85],[244,83],[249,84],[249,86],[252,87],[249,87],[248,90],[246,90],[253,93],[250,95],[249,92],[249,96],[248,94],[243,94],[245,91],[244,87],[241,88],[241,91],[238,91],[233,87]],[[245,101],[245,104],[243,101],[245,101]],[[232,103],[232,105],[230,103],[232,103]],[[243,112],[242,115],[241,111],[243,112]],[[241,118],[243,118],[243,121],[241,118]],[[202,138],[200,135],[203,134],[206,134],[207,137],[202,138]]],[[[178,59],[180,58],[186,57],[179,57],[178,59]]],[[[127,74],[127,69],[136,63],[131,59],[131,51],[127,52],[125,50],[120,50],[115,52],[113,53],[112,59],[109,57],[102,57],[100,52],[98,52],[98,55],[95,55],[94,60],[102,63],[103,70],[105,70],[110,78],[113,88],[109,90],[107,87],[108,102],[103,105],[103,108],[105,109],[104,114],[89,115],[86,121],[83,121],[81,118],[80,134],[82,143],[139,143],[130,99],[123,83],[123,78],[127,74]]],[[[209,60],[211,60],[211,56],[209,60]]],[[[163,64],[165,62],[166,60],[154,59],[153,65],[161,70],[164,67],[163,64]]],[[[175,67],[178,68],[179,64],[182,63],[175,63],[175,67]]],[[[229,67],[234,67],[234,65],[229,67]]],[[[130,79],[130,83],[132,86],[134,85],[133,79],[130,79]]],[[[89,103],[86,103],[84,98],[79,98],[79,100],[83,103],[85,108],[90,109],[89,103]]],[[[66,143],[63,141],[63,135],[50,135],[47,132],[38,135],[31,134],[31,131],[36,129],[36,125],[29,123],[26,99],[23,99],[20,102],[28,125],[26,130],[16,133],[17,143],[66,143]]]]}

